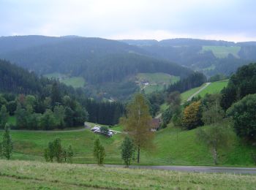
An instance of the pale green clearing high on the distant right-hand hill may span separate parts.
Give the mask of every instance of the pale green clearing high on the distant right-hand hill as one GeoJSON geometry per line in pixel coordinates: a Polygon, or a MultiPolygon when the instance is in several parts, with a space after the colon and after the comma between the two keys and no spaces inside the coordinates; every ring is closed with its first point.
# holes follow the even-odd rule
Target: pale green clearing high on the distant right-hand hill
{"type": "Polygon", "coordinates": [[[226,58],[229,53],[238,58],[238,52],[241,47],[238,46],[203,46],[203,51],[211,50],[217,58],[226,58]]]}

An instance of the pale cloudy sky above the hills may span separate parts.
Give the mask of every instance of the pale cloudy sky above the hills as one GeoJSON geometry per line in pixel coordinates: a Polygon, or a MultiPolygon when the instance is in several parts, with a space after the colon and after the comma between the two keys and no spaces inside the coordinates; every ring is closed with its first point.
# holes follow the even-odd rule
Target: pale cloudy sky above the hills
{"type": "Polygon", "coordinates": [[[256,41],[255,0],[0,0],[0,36],[256,41]]]}

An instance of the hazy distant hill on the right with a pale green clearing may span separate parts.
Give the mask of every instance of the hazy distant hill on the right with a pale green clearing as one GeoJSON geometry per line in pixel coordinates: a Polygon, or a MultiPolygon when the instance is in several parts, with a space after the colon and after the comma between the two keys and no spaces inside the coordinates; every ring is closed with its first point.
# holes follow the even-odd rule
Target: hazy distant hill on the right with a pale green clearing
{"type": "Polygon", "coordinates": [[[164,58],[211,76],[230,75],[239,66],[256,61],[256,42],[206,39],[121,40],[136,45],[156,58],[164,58]]]}

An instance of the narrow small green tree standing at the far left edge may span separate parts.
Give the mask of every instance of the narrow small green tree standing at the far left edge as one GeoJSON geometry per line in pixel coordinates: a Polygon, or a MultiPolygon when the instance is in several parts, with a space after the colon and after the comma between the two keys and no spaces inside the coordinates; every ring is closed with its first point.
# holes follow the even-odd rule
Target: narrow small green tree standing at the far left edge
{"type": "Polygon", "coordinates": [[[12,147],[12,137],[10,135],[10,125],[6,123],[4,127],[2,149],[3,149],[3,156],[5,156],[7,159],[11,158],[12,148],[13,147],[12,147]]]}

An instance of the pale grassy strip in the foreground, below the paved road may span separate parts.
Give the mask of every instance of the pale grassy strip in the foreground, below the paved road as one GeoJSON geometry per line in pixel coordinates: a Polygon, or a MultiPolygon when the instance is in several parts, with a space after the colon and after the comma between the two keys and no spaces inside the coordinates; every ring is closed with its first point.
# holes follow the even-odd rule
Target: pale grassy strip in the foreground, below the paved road
{"type": "Polygon", "coordinates": [[[256,175],[0,160],[1,189],[254,189],[256,175]]]}

